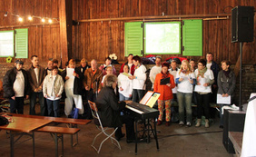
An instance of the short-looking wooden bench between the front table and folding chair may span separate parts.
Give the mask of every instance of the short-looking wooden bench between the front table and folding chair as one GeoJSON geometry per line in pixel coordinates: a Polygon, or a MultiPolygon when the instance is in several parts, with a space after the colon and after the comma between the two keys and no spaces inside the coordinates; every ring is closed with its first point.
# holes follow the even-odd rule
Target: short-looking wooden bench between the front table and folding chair
{"type": "Polygon", "coordinates": [[[64,128],[56,126],[44,126],[36,130],[36,132],[49,132],[55,142],[55,156],[58,157],[58,141],[62,142],[62,156],[64,156],[64,134],[77,134],[80,129],[78,128],[64,128]]]}

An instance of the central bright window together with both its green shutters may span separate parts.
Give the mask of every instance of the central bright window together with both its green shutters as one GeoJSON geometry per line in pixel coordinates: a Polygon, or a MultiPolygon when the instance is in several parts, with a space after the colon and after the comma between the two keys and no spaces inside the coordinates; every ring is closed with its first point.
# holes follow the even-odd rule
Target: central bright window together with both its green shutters
{"type": "Polygon", "coordinates": [[[128,54],[202,56],[202,20],[183,20],[182,25],[181,22],[124,23],[124,49],[125,56],[128,54]]]}

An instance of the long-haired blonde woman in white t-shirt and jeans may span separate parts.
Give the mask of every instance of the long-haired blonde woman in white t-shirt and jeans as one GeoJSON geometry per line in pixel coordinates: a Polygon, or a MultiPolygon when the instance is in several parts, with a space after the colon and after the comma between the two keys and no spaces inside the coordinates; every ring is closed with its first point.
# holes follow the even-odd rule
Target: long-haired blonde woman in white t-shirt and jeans
{"type": "Polygon", "coordinates": [[[179,104],[180,126],[184,125],[184,108],[186,109],[186,126],[192,125],[192,90],[196,82],[195,75],[187,60],[182,61],[182,67],[176,74],[177,100],[179,104]]]}

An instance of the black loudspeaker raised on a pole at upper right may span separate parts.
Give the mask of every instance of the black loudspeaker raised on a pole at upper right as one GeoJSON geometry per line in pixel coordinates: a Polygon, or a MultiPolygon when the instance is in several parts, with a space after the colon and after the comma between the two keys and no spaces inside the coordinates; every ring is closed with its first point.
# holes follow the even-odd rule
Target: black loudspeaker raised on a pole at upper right
{"type": "Polygon", "coordinates": [[[236,6],[232,8],[231,42],[253,41],[253,6],[236,6]]]}

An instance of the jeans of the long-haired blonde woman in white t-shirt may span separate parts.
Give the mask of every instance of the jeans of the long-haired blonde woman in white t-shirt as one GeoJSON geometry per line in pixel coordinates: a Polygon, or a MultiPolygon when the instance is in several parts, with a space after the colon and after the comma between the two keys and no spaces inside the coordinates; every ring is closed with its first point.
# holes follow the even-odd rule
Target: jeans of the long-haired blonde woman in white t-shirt
{"type": "Polygon", "coordinates": [[[186,108],[186,122],[192,123],[192,93],[177,92],[180,122],[184,122],[184,108],[186,108]]]}

